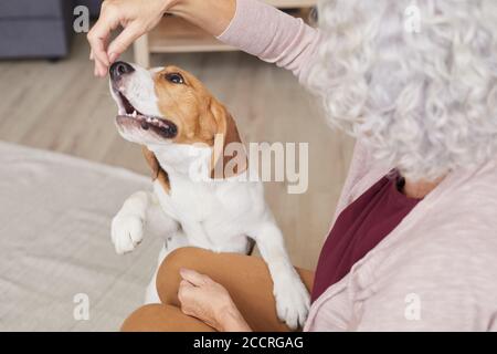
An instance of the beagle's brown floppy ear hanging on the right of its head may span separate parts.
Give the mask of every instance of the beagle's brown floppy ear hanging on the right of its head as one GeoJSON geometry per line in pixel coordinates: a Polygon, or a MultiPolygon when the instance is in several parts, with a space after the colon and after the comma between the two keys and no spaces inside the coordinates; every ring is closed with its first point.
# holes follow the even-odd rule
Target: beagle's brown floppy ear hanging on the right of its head
{"type": "Polygon", "coordinates": [[[211,178],[229,178],[242,174],[246,170],[247,158],[233,117],[215,98],[211,98],[210,113],[216,124],[211,178]]]}

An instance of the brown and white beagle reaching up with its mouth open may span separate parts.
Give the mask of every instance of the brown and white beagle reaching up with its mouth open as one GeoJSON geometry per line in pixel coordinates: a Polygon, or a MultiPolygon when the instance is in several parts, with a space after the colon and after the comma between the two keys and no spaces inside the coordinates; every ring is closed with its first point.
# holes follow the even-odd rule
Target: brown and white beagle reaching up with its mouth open
{"type": "MultiPolygon", "coordinates": [[[[114,217],[116,252],[133,251],[144,238],[145,225],[165,237],[159,266],[179,247],[250,253],[255,241],[273,279],[278,317],[292,329],[303,325],[309,294],[285,250],[262,183],[237,178],[251,170],[240,150],[239,164],[218,169],[233,160],[225,148],[241,144],[226,108],[198,79],[177,66],[146,70],[116,62],[109,75],[118,132],[142,146],[154,177],[152,191],[135,192],[114,217]]],[[[146,303],[160,302],[156,275],[157,270],[146,303]]]]}

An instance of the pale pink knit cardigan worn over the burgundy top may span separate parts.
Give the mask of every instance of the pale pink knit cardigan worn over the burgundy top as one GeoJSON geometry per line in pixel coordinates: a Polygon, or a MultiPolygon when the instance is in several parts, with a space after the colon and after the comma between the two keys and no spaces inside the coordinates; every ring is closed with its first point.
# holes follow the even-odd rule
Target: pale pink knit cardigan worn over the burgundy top
{"type": "MultiPolygon", "coordinates": [[[[219,39],[305,83],[320,34],[263,2],[237,0],[219,39]]],[[[336,216],[391,167],[358,142],[336,216]]],[[[497,160],[450,174],[314,302],[305,325],[353,330],[497,331],[497,160]]]]}

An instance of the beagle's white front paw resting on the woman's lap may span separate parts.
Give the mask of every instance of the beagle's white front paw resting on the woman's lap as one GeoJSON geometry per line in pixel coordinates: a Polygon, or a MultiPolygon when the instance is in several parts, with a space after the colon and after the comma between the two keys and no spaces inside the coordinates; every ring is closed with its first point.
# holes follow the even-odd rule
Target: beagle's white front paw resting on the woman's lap
{"type": "Polygon", "coordinates": [[[300,278],[279,279],[274,285],[276,313],[292,330],[304,326],[309,312],[310,296],[300,278]]]}

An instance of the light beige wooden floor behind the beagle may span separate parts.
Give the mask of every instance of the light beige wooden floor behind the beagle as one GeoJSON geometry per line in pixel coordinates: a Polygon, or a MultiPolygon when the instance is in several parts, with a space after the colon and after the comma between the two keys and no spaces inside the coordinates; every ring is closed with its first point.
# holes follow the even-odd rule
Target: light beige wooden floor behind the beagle
{"type": "MultiPolygon", "coordinates": [[[[148,174],[137,145],[114,127],[106,80],[93,76],[84,37],[67,60],[0,61],[0,139],[148,174]]],[[[130,53],[124,56],[131,60],[130,53]]],[[[328,128],[317,102],[288,72],[244,53],[154,55],[198,75],[235,117],[244,142],[309,143],[309,188],[266,195],[296,266],[314,269],[351,156],[352,140],[328,128]]],[[[1,178],[1,176],[0,176],[1,178]]]]}

